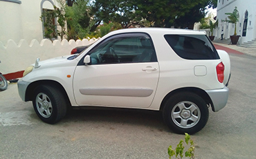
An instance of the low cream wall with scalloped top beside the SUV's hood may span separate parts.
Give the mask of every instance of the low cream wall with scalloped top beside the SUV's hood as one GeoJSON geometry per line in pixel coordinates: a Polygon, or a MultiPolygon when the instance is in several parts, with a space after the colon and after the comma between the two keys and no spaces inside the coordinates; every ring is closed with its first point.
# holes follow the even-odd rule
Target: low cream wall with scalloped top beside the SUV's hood
{"type": "Polygon", "coordinates": [[[40,61],[70,55],[71,50],[77,46],[86,46],[92,44],[98,39],[82,39],[67,41],[66,39],[59,41],[50,41],[43,39],[41,43],[33,39],[30,44],[25,39],[21,39],[16,44],[12,39],[8,40],[6,45],[0,41],[0,72],[3,74],[24,71],[30,64],[34,64],[39,57],[40,61]]]}

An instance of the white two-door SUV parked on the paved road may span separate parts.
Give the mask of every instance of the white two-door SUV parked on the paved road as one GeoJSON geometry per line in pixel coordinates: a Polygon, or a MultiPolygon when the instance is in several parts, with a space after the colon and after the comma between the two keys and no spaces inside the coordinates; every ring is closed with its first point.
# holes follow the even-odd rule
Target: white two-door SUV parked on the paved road
{"type": "Polygon", "coordinates": [[[37,59],[19,79],[19,95],[50,124],[68,106],[107,106],[162,111],[176,133],[196,133],[208,121],[208,107],[216,112],[228,101],[230,59],[218,52],[205,32],[117,30],[80,55],[37,59]]]}

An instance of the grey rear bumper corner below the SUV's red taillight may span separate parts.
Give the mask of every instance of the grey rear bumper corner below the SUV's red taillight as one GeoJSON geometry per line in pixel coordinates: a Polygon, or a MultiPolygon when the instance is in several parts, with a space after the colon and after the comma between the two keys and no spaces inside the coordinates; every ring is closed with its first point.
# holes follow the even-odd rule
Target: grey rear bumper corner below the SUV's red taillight
{"type": "Polygon", "coordinates": [[[206,91],[212,100],[212,111],[217,112],[226,106],[228,102],[228,87],[206,91]]]}

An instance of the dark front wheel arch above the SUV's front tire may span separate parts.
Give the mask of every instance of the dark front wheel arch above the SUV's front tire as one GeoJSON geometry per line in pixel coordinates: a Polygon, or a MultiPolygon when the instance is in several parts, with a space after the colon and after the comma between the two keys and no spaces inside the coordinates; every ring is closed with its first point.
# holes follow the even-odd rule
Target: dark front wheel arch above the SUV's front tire
{"type": "Polygon", "coordinates": [[[59,82],[53,81],[53,80],[39,80],[39,81],[35,81],[35,82],[29,84],[28,88],[26,89],[26,95],[25,95],[26,102],[33,100],[33,92],[35,91],[35,88],[37,88],[37,86],[41,86],[41,85],[57,87],[63,93],[63,95],[66,99],[66,102],[68,102],[68,104],[71,105],[71,102],[70,102],[68,95],[67,95],[64,87],[62,86],[62,84],[60,84],[59,82]]]}

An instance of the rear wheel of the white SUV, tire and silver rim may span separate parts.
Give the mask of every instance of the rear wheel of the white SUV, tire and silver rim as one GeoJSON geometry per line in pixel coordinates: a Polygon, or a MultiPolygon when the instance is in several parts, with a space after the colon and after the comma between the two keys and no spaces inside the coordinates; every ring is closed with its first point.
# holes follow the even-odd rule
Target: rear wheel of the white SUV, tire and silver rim
{"type": "Polygon", "coordinates": [[[196,133],[205,127],[208,118],[203,98],[190,92],[172,95],[163,107],[163,120],[176,133],[196,133]]]}

